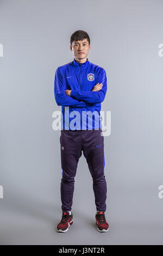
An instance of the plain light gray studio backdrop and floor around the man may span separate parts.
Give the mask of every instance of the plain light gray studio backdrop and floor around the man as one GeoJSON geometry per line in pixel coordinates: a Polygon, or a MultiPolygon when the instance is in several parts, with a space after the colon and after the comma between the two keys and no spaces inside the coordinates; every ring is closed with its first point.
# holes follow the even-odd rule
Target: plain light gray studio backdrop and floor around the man
{"type": "Polygon", "coordinates": [[[0,0],[2,245],[162,244],[161,0],[0,0]],[[108,78],[103,111],[108,233],[95,224],[92,178],[79,160],[74,223],[57,233],[61,218],[60,131],[52,129],[54,73],[73,60],[71,34],[89,33],[90,62],[108,78]]]}

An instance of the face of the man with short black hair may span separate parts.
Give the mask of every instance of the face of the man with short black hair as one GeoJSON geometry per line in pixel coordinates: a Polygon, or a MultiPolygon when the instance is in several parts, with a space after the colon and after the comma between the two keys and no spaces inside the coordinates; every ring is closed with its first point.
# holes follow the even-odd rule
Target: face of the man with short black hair
{"type": "Polygon", "coordinates": [[[74,41],[72,43],[72,46],[70,45],[70,49],[74,54],[74,59],[76,59],[78,62],[86,62],[87,54],[89,53],[91,45],[89,45],[89,42],[87,39],[84,39],[82,41],[74,41]]]}

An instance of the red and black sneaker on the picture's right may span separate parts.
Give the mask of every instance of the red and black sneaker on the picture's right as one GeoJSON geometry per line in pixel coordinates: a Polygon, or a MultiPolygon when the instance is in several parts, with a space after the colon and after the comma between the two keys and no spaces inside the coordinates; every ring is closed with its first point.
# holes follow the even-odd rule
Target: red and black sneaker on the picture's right
{"type": "Polygon", "coordinates": [[[99,232],[106,232],[109,230],[109,224],[106,222],[104,211],[97,211],[96,224],[99,232]]]}

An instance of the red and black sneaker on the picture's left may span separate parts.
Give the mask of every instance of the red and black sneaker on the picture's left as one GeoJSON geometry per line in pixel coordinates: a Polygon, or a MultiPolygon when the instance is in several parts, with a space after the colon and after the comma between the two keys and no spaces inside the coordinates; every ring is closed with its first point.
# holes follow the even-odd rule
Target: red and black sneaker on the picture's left
{"type": "Polygon", "coordinates": [[[62,212],[62,219],[57,225],[57,231],[58,232],[68,231],[68,227],[70,227],[70,225],[72,225],[72,223],[73,223],[73,218],[72,217],[73,217],[72,212],[71,212],[71,215],[70,215],[69,212],[63,211],[62,212]]]}

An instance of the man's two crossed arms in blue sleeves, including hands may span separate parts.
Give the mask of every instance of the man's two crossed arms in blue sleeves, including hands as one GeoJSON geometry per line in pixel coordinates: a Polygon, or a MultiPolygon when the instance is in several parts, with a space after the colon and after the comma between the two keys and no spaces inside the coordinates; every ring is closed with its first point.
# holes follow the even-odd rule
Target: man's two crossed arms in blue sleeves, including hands
{"type": "Polygon", "coordinates": [[[107,90],[106,72],[100,69],[97,78],[96,86],[91,92],[82,92],[79,90],[65,90],[65,82],[60,74],[59,69],[55,72],[54,80],[54,95],[57,105],[71,107],[85,107],[93,103],[102,102],[105,98],[107,90]],[[100,84],[99,84],[100,83],[100,84]]]}

